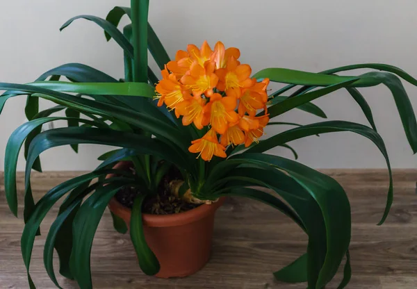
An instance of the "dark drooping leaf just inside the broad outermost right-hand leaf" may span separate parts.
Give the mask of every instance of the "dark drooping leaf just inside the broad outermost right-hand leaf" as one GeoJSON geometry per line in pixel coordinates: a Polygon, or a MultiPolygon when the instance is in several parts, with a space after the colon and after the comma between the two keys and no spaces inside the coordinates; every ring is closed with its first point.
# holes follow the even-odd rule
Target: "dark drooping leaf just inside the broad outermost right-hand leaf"
{"type": "MultiPolygon", "coordinates": [[[[243,154],[243,156],[245,155],[243,154]]],[[[306,233],[309,235],[309,245],[307,247],[309,259],[307,267],[299,268],[299,274],[306,274],[303,271],[307,270],[309,272],[309,288],[321,288],[316,287],[316,283],[327,254],[328,232],[322,210],[316,199],[291,176],[281,170],[276,170],[269,163],[248,160],[247,158],[229,158],[222,162],[221,166],[220,170],[227,171],[227,174],[224,179],[220,179],[216,183],[227,181],[226,187],[228,187],[229,185],[236,185],[236,181],[233,181],[233,179],[238,180],[237,184],[241,184],[242,179],[244,179],[248,183],[243,183],[243,186],[261,185],[270,188],[300,216],[306,233]],[[256,167],[247,167],[248,164],[256,165],[256,167]],[[236,165],[245,165],[245,167],[236,168],[236,165]]],[[[316,177],[316,179],[318,178],[316,177]]]]}

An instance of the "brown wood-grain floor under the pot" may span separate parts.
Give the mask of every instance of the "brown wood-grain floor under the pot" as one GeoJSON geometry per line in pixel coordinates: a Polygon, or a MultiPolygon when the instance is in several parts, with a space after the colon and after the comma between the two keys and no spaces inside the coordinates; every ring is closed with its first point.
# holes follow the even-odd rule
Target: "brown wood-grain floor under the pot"
{"type": "MultiPolygon", "coordinates": [[[[385,204],[386,171],[325,172],[342,183],[352,204],[353,276],[347,288],[417,288],[417,170],[395,171],[394,204],[383,226],[376,223],[385,204]]],[[[76,174],[80,173],[34,174],[35,199],[76,174]]],[[[22,192],[22,174],[19,182],[22,192]]],[[[23,221],[9,212],[3,189],[0,173],[0,288],[28,288],[19,247],[23,221]]],[[[56,213],[55,209],[47,215],[41,231],[47,231],[56,213]]],[[[35,240],[31,275],[38,288],[54,288],[43,267],[43,245],[44,235],[35,240]]],[[[106,211],[93,244],[92,278],[95,288],[306,288],[272,278],[272,272],[305,249],[306,236],[288,217],[255,201],[229,199],[216,215],[213,256],[206,267],[186,279],[156,279],[140,272],[129,236],[113,231],[106,211]]],[[[336,288],[340,279],[338,274],[329,288],[336,288]]],[[[73,281],[58,281],[63,288],[77,288],[73,281]]]]}

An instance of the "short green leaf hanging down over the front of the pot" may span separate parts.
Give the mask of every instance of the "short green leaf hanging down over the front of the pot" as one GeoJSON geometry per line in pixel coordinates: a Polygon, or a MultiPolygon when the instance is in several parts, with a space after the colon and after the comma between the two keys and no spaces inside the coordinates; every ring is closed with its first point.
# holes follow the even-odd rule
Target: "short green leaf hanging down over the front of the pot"
{"type": "Polygon", "coordinates": [[[147,275],[154,275],[161,268],[155,254],[147,245],[142,224],[142,202],[146,195],[138,195],[133,201],[130,236],[138,256],[139,266],[147,275]]]}

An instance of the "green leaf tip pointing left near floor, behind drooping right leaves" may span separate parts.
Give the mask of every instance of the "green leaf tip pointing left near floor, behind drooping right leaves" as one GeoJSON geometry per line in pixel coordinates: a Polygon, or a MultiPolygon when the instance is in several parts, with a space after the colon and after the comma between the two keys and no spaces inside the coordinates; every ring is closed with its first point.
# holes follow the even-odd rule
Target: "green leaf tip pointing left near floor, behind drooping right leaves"
{"type": "Polygon", "coordinates": [[[299,283],[307,281],[308,255],[304,254],[290,265],[274,273],[275,279],[286,283],[299,283]]]}

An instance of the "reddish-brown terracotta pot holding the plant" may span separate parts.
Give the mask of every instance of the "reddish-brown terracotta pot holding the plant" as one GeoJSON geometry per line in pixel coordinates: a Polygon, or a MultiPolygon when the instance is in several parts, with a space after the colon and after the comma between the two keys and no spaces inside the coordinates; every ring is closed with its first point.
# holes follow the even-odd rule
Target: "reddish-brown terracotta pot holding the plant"
{"type": "MultiPolygon", "coordinates": [[[[123,169],[129,163],[122,162],[115,169],[123,169]]],[[[183,213],[171,215],[142,214],[147,244],[161,265],[156,276],[161,278],[184,277],[194,274],[206,265],[211,253],[215,211],[224,198],[203,204],[183,213]]],[[[108,208],[130,225],[131,209],[113,198],[108,208]]]]}

